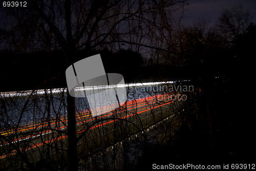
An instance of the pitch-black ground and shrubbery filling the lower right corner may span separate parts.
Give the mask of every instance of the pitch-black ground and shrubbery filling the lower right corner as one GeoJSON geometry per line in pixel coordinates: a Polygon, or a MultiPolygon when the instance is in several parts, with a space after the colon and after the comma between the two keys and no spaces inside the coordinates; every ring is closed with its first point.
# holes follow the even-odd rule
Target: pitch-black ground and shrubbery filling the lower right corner
{"type": "Polygon", "coordinates": [[[151,170],[154,163],[255,164],[253,84],[222,78],[210,85],[211,89],[196,101],[199,109],[188,107],[182,114],[186,122],[175,137],[168,144],[148,149],[139,160],[138,170],[151,170]]]}

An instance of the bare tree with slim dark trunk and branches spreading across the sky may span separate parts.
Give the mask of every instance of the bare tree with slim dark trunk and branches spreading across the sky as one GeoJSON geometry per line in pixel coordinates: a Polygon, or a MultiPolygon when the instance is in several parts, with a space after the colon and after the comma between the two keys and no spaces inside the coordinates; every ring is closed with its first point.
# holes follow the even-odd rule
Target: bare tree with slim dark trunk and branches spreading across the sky
{"type": "MultiPolygon", "coordinates": [[[[182,17],[185,0],[28,1],[28,8],[6,9],[5,41],[15,53],[63,52],[66,68],[77,51],[166,51],[182,17]],[[179,16],[176,14],[180,14],[179,16]]],[[[56,66],[57,67],[57,66],[56,66]]],[[[67,96],[69,169],[77,168],[75,98],[67,96]]]]}

